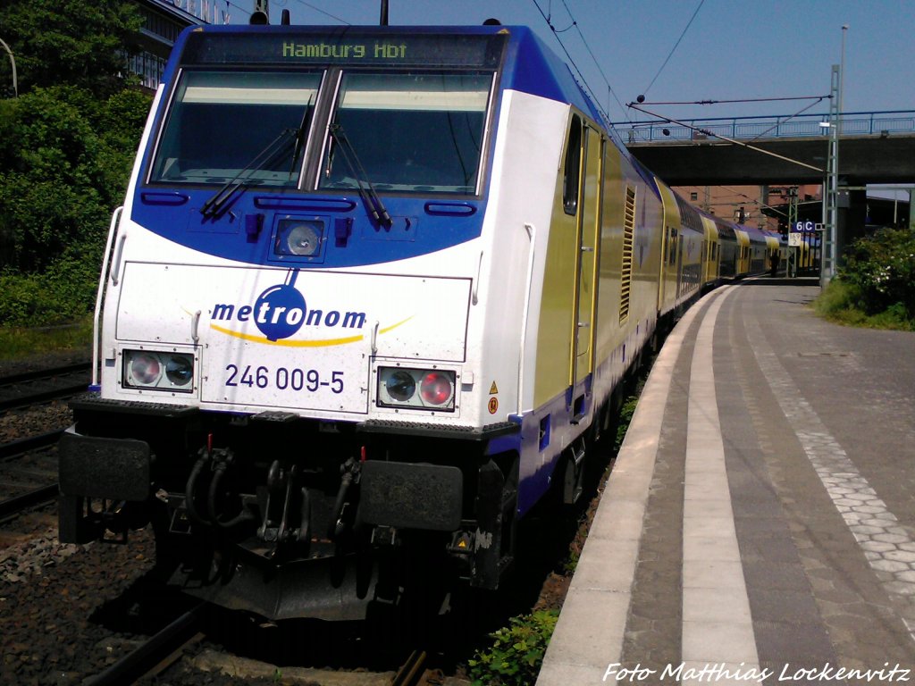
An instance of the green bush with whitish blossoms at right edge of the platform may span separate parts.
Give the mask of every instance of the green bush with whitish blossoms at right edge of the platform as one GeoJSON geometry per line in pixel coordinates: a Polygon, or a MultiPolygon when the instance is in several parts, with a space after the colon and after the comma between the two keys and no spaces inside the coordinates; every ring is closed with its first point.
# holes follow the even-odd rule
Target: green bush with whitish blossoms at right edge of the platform
{"type": "Polygon", "coordinates": [[[881,229],[855,241],[839,278],[856,288],[856,306],[865,314],[893,309],[915,319],[915,233],[881,229]]]}

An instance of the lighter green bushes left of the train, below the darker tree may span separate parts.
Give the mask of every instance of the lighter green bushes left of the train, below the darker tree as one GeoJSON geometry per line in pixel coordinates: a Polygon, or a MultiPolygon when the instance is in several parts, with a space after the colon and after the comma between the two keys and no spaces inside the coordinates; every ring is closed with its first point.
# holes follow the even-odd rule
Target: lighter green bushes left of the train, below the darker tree
{"type": "Polygon", "coordinates": [[[0,325],[89,311],[150,98],[72,86],[0,103],[0,325]]]}

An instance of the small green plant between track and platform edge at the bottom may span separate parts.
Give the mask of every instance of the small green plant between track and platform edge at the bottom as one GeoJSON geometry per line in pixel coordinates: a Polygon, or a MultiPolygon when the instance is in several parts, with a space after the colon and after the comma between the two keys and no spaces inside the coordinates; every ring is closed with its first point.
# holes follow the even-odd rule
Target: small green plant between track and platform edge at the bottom
{"type": "Polygon", "coordinates": [[[468,660],[474,686],[527,686],[537,681],[558,618],[557,610],[511,617],[509,627],[490,634],[492,647],[468,660]]]}

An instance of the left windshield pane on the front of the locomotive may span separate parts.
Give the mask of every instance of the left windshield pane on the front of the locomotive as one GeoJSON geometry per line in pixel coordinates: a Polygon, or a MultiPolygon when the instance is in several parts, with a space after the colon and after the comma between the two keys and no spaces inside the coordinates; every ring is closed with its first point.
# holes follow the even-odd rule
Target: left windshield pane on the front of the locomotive
{"type": "Polygon", "coordinates": [[[320,81],[320,72],[185,72],[150,182],[221,185],[242,174],[252,185],[297,186],[298,134],[320,81]]]}

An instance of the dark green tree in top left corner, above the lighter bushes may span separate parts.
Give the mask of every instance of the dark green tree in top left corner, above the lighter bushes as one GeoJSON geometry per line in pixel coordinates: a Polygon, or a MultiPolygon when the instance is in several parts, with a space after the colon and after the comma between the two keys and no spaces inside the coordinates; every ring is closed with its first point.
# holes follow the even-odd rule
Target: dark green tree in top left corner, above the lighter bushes
{"type": "MultiPolygon", "coordinates": [[[[134,3],[4,0],[0,38],[16,56],[19,94],[59,83],[106,97],[124,88],[143,18],[134,3]]],[[[8,60],[5,60],[8,61],[8,60]]],[[[3,83],[10,65],[0,66],[3,83]]]]}

